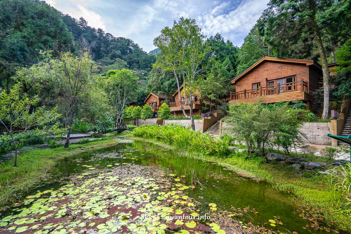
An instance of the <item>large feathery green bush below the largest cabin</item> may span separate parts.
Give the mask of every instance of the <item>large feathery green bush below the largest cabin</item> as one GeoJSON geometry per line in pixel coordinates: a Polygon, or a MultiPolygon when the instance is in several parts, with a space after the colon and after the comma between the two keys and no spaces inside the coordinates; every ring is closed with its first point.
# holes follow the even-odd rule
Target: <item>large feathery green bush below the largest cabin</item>
{"type": "Polygon", "coordinates": [[[239,141],[244,141],[249,154],[254,147],[265,151],[276,146],[289,154],[291,147],[301,142],[298,109],[289,109],[287,103],[270,105],[238,104],[232,105],[229,114],[223,119],[227,129],[239,141]]]}

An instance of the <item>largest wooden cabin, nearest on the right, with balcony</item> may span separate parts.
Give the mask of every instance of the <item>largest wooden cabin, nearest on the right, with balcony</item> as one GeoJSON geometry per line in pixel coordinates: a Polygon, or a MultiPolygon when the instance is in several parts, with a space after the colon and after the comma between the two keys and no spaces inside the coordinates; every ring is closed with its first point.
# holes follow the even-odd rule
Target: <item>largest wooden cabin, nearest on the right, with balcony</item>
{"type": "Polygon", "coordinates": [[[322,67],[313,60],[263,57],[232,80],[230,104],[302,100],[311,110],[323,80],[322,67]]]}

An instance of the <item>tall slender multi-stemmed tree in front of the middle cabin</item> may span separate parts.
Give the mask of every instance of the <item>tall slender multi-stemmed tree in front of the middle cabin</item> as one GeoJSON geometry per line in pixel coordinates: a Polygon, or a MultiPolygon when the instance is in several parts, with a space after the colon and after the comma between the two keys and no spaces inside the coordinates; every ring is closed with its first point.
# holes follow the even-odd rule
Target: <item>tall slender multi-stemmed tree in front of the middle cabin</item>
{"type": "Polygon", "coordinates": [[[156,62],[164,72],[171,72],[177,81],[178,97],[180,109],[184,116],[191,120],[191,128],[195,130],[193,115],[193,93],[196,89],[196,81],[204,72],[201,62],[205,59],[205,54],[209,48],[204,44],[205,36],[201,28],[196,25],[194,19],[179,19],[173,22],[173,27],[165,27],[161,30],[161,35],[154,39],[154,46],[160,49],[156,62]],[[190,106],[190,115],[185,112],[180,100],[180,83],[183,82],[185,105],[190,106]]]}

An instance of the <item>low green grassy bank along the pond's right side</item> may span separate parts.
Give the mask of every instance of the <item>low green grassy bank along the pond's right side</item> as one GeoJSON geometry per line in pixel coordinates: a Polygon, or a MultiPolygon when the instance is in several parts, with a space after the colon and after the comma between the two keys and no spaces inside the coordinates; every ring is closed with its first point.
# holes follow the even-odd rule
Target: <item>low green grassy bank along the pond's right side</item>
{"type": "MultiPolygon", "coordinates": [[[[174,148],[155,140],[134,137],[129,139],[146,140],[165,148],[174,148]]],[[[238,174],[270,182],[277,190],[291,193],[300,205],[322,213],[328,222],[351,230],[351,207],[339,192],[334,192],[326,180],[322,181],[324,175],[301,171],[303,176],[298,176],[294,174],[296,171],[292,167],[282,163],[262,163],[262,160],[245,159],[237,155],[228,158],[203,155],[203,158],[230,168],[238,174]]]]}

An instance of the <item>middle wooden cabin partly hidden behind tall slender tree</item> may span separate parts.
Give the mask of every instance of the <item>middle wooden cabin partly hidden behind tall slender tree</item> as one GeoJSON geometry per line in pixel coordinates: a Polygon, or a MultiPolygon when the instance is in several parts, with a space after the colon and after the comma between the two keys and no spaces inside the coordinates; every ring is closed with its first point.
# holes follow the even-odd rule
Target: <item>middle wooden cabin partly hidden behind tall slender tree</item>
{"type": "MultiPolygon", "coordinates": [[[[185,97],[184,98],[184,91],[183,91],[184,85],[180,86],[180,101],[181,101],[181,105],[183,105],[186,114],[190,114],[190,106],[189,105],[185,105],[185,98],[189,98],[189,97],[185,97]]],[[[179,103],[179,94],[178,94],[178,89],[177,91],[172,95],[172,99],[174,100],[173,102],[170,103],[170,107],[171,107],[171,111],[174,112],[174,117],[178,117],[178,116],[182,116],[183,111],[180,108],[180,103],[179,103]]],[[[202,107],[203,104],[201,102],[201,95],[199,91],[194,91],[193,92],[193,114],[194,115],[201,115],[202,114],[202,107]]]]}

